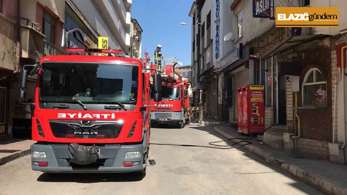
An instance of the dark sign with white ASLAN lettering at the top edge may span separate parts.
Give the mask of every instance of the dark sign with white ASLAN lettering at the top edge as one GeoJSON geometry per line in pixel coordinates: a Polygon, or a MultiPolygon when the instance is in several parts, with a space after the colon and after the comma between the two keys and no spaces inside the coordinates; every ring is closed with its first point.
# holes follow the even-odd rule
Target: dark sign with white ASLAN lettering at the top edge
{"type": "Polygon", "coordinates": [[[252,0],[253,18],[270,18],[271,7],[271,0],[252,0]]]}

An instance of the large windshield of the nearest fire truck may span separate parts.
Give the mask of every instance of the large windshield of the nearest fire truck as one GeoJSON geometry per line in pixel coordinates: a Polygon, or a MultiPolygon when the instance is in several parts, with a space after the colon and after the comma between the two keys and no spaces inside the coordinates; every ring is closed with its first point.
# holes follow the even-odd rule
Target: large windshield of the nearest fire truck
{"type": "Polygon", "coordinates": [[[40,101],[136,104],[138,66],[98,63],[42,63],[40,101]]]}

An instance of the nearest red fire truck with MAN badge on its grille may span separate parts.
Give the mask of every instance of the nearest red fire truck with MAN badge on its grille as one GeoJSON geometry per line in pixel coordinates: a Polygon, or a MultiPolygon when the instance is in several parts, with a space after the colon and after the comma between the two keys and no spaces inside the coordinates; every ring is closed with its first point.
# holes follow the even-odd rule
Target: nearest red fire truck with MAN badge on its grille
{"type": "MultiPolygon", "coordinates": [[[[37,74],[32,169],[144,174],[150,135],[150,73],[145,64],[117,56],[121,50],[67,51],[69,55],[45,56],[20,71],[21,102],[26,68],[33,67],[31,76],[37,74]]],[[[154,101],[160,102],[160,74],[153,75],[153,90],[154,101]]]]}

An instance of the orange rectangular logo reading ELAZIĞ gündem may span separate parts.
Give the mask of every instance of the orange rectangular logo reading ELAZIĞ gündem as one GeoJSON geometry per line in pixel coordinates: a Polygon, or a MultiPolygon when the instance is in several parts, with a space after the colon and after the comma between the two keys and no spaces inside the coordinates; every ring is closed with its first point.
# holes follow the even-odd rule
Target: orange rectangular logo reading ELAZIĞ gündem
{"type": "Polygon", "coordinates": [[[276,27],[338,27],[338,7],[276,7],[276,27]]]}

